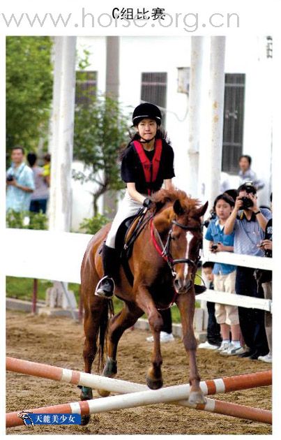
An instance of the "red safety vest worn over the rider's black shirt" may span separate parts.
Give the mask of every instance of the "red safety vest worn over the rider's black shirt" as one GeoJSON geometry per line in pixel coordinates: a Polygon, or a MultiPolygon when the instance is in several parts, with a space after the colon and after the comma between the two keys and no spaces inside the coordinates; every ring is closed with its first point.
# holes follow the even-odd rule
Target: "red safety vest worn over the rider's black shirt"
{"type": "Polygon", "coordinates": [[[149,196],[151,195],[151,184],[153,184],[157,178],[160,159],[162,154],[162,140],[155,139],[155,153],[152,161],[146,156],[142,143],[139,140],[134,140],[132,142],[139,155],[139,160],[142,162],[142,168],[144,170],[144,177],[146,179],[146,184],[148,186],[149,196]],[[149,187],[150,186],[150,187],[149,187]]]}

